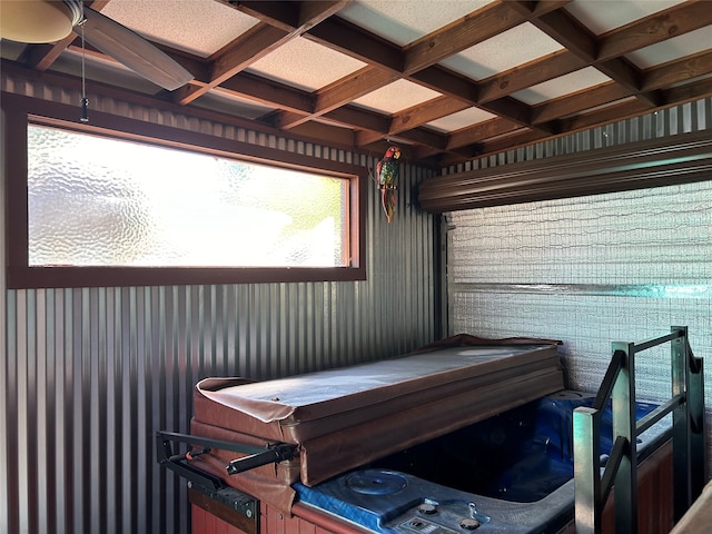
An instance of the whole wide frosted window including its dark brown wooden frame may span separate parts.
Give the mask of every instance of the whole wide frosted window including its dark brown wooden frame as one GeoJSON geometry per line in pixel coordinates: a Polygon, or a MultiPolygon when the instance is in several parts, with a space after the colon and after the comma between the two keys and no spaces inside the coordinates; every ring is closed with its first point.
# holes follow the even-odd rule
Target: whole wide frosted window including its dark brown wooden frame
{"type": "Polygon", "coordinates": [[[365,278],[363,169],[16,98],[9,287],[365,278]]]}

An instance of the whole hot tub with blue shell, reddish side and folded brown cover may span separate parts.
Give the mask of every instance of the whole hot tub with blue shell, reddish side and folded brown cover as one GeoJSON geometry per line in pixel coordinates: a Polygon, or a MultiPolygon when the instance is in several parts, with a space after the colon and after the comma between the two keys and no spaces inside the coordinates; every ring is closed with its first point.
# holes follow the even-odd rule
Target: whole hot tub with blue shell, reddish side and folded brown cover
{"type": "MultiPolygon", "coordinates": [[[[346,369],[202,380],[188,443],[212,443],[188,463],[255,500],[259,521],[238,531],[248,534],[562,532],[573,521],[572,413],[592,402],[564,389],[555,342],[458,337],[346,369]],[[249,453],[219,443],[295,454],[226,471],[249,453]]],[[[664,423],[641,436],[640,459],[660,449],[664,423]]],[[[194,534],[214,532],[212,504],[197,502],[194,534]]]]}

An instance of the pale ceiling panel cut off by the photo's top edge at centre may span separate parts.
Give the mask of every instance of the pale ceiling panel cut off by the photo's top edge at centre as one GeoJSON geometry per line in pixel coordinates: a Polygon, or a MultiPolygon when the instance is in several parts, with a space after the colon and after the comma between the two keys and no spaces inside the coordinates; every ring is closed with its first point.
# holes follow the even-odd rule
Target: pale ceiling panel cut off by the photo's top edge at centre
{"type": "Polygon", "coordinates": [[[399,46],[419,39],[493,0],[358,0],[338,16],[399,46]]]}

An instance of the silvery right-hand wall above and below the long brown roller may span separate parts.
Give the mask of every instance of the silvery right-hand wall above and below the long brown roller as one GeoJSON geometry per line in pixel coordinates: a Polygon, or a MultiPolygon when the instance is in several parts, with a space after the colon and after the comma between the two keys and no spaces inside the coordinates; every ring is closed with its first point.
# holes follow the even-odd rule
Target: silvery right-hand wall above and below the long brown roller
{"type": "MultiPolygon", "coordinates": [[[[712,130],[710,99],[468,167],[698,130],[712,130]]],[[[451,169],[461,170],[468,168],[451,169]]],[[[562,339],[571,387],[593,390],[612,342],[642,342],[673,325],[689,326],[695,355],[708,357],[705,394],[712,398],[710,180],[449,214],[451,333],[562,339]]],[[[646,354],[636,376],[640,395],[670,398],[670,346],[646,354]]],[[[710,409],[706,419],[710,428],[710,409]]]]}

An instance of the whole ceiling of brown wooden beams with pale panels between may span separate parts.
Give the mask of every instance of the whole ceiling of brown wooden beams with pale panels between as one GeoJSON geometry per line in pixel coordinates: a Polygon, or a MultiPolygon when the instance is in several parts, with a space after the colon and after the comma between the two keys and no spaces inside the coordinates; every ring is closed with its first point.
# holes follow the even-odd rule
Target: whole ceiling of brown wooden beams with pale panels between
{"type": "MultiPolygon", "coordinates": [[[[195,77],[167,91],[88,48],[90,81],[320,142],[374,151],[397,142],[427,165],[712,96],[706,0],[90,4],[195,77]]],[[[77,33],[1,47],[4,66],[80,73],[77,33]]]]}

